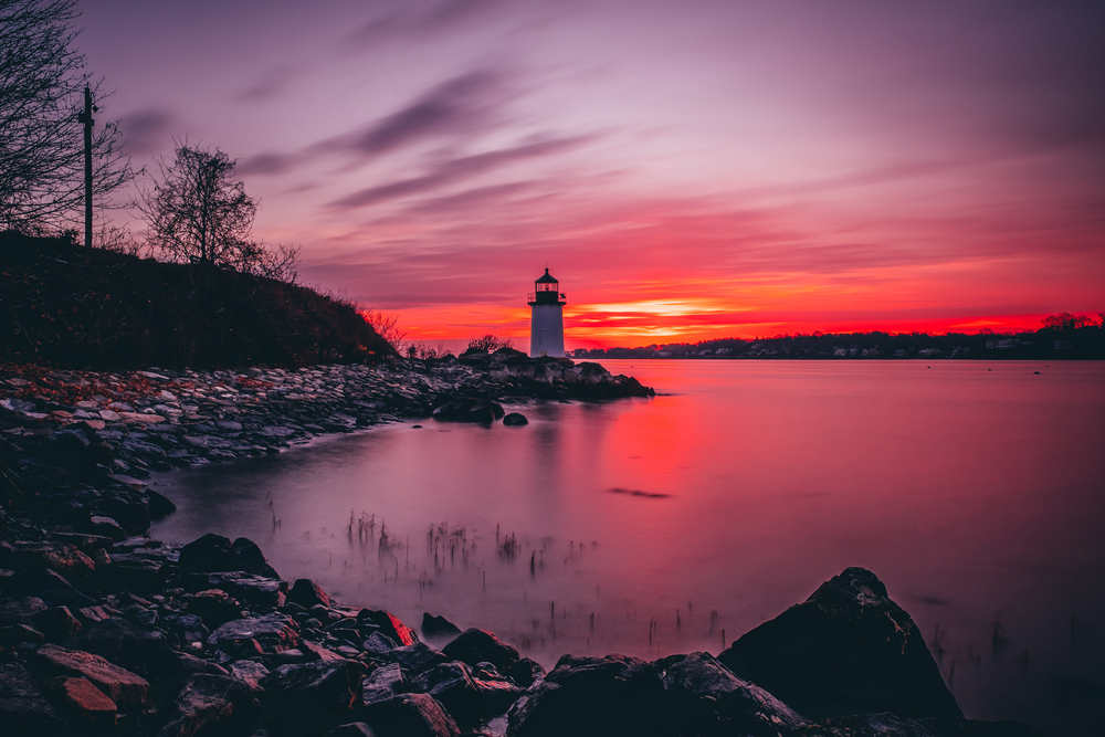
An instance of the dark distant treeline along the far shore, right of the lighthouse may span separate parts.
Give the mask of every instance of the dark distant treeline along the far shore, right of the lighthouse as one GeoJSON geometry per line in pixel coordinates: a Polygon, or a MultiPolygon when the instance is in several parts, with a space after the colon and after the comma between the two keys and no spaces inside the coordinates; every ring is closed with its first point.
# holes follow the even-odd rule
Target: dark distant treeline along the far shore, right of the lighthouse
{"type": "Polygon", "coordinates": [[[1063,313],[1035,331],[821,333],[771,338],[720,338],[699,343],[653,344],[640,348],[580,348],[573,358],[797,358],[797,359],[1105,359],[1105,328],[1098,319],[1063,313]]]}

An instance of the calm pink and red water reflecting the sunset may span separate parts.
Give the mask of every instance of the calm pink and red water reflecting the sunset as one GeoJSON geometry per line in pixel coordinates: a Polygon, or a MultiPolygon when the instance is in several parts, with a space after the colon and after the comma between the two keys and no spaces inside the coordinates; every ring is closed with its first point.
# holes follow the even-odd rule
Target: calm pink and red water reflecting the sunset
{"type": "Polygon", "coordinates": [[[863,566],[968,716],[1096,723],[1105,364],[604,365],[662,396],[167,474],[179,510],[155,533],[244,535],[285,578],[490,629],[546,666],[717,653],[863,566]]]}

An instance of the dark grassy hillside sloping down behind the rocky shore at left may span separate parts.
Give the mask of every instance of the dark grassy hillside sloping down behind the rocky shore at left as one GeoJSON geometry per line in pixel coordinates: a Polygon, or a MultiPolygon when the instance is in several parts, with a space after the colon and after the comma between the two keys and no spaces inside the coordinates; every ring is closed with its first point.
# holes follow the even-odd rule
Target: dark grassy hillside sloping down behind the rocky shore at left
{"type": "Polygon", "coordinates": [[[303,286],[0,233],[0,361],[294,368],[393,354],[351,304],[303,286]]]}

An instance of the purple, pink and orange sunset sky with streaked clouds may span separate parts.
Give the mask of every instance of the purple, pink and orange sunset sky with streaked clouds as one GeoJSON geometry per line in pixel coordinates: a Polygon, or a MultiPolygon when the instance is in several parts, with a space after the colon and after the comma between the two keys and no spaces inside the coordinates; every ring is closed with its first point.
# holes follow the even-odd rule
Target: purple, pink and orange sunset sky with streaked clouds
{"type": "Polygon", "coordinates": [[[78,8],[133,162],[238,159],[255,234],[409,340],[525,349],[546,266],[568,348],[1105,309],[1099,2],[78,8]]]}

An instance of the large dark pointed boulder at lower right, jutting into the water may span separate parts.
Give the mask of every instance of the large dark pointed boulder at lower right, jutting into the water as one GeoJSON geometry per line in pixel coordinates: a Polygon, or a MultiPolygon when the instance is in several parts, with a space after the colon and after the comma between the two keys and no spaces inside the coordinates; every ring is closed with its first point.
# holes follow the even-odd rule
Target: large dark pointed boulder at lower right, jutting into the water
{"type": "Polygon", "coordinates": [[[809,718],[962,716],[917,625],[863,568],[822,583],[718,660],[809,718]]]}

